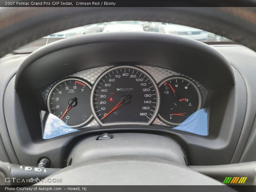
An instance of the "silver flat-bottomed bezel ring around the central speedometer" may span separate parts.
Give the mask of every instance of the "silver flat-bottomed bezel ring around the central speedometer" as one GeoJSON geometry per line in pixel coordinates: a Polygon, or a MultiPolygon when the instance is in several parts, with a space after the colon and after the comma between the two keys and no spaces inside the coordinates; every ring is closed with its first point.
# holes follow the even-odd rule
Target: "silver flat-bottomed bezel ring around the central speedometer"
{"type": "Polygon", "coordinates": [[[92,114],[94,119],[97,121],[98,124],[100,124],[101,126],[107,126],[107,125],[126,125],[126,124],[136,124],[136,125],[150,125],[154,122],[154,120],[157,117],[158,111],[159,111],[159,107],[160,107],[160,94],[159,94],[159,89],[158,89],[158,85],[155,81],[155,79],[144,69],[140,68],[140,67],[134,67],[134,66],[130,66],[130,65],[120,65],[120,66],[114,66],[111,68],[108,68],[106,71],[104,71],[94,82],[93,86],[92,86],[92,92],[91,92],[91,109],[92,109],[92,114]],[[143,122],[134,122],[134,121],[127,121],[127,122],[116,122],[116,123],[103,123],[101,122],[101,120],[98,118],[94,105],[93,105],[93,99],[94,99],[94,92],[96,89],[96,86],[98,85],[98,83],[100,82],[100,80],[106,76],[108,73],[110,73],[111,71],[114,71],[116,69],[119,68],[132,68],[135,70],[140,71],[142,74],[144,74],[154,85],[155,91],[156,91],[156,109],[153,113],[153,116],[148,120],[147,123],[143,123],[143,122]]]}

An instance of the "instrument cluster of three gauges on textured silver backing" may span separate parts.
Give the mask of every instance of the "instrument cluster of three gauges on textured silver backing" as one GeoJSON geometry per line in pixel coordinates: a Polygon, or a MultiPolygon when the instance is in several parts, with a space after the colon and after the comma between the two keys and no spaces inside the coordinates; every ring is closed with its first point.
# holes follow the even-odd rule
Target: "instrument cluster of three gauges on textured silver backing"
{"type": "Polygon", "coordinates": [[[87,69],[50,85],[42,97],[50,114],[81,128],[99,124],[178,126],[200,110],[208,91],[188,76],[151,66],[87,69]]]}

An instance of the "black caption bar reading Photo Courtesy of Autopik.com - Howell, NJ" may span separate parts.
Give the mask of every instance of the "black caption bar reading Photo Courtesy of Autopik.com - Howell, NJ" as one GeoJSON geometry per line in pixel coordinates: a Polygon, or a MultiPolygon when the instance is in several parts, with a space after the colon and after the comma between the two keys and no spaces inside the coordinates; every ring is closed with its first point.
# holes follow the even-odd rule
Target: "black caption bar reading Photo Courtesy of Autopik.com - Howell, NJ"
{"type": "MultiPolygon", "coordinates": [[[[190,185],[190,186],[109,186],[109,185],[101,185],[101,186],[83,186],[83,185],[33,185],[33,186],[0,186],[0,191],[31,191],[31,192],[42,192],[42,191],[62,191],[62,192],[76,192],[76,191],[81,191],[81,192],[99,192],[99,191],[104,191],[104,192],[115,192],[115,191],[122,191],[122,192],[170,192],[170,191],[179,191],[179,192],[201,192],[201,191],[207,191],[207,192],[235,192],[237,189],[233,189],[234,186],[227,186],[227,185],[220,185],[220,186],[209,186],[209,185],[202,185],[202,186],[195,186],[195,185],[190,185]],[[232,188],[231,188],[232,187],[232,188]]],[[[239,186],[238,191],[246,191],[246,192],[251,192],[254,191],[255,186],[239,186]]]]}

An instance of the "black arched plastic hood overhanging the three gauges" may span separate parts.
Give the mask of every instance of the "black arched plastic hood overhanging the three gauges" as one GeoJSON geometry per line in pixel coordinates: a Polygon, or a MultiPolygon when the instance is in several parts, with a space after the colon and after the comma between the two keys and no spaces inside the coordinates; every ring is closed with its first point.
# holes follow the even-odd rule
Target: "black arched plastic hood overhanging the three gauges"
{"type": "Polygon", "coordinates": [[[228,60],[202,42],[151,32],[113,32],[71,37],[36,50],[21,64],[15,89],[35,93],[77,71],[124,62],[178,71],[209,91],[234,85],[228,60]]]}

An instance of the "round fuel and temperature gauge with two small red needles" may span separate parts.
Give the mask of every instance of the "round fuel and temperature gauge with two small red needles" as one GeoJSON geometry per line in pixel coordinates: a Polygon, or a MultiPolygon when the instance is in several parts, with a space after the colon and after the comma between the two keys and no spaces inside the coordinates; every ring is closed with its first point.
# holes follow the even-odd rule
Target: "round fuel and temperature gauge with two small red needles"
{"type": "Polygon", "coordinates": [[[201,108],[201,93],[191,80],[167,77],[159,83],[161,106],[158,117],[165,124],[179,125],[201,108]]]}

